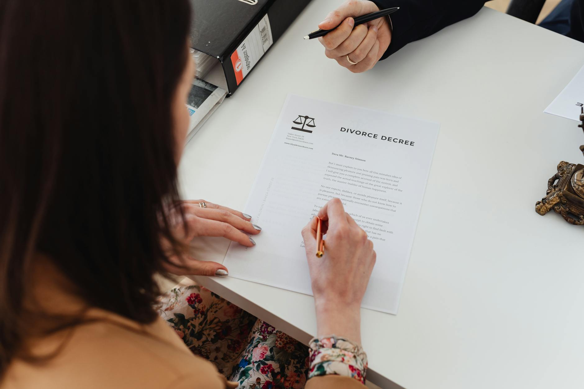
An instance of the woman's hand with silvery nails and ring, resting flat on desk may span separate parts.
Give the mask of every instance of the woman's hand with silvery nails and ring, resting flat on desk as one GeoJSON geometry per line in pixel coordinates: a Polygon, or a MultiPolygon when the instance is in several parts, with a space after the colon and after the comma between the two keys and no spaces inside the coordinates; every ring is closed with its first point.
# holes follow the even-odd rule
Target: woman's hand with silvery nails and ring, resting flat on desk
{"type": "MultiPolygon", "coordinates": [[[[251,223],[249,215],[206,200],[186,200],[178,206],[182,207],[185,223],[176,222],[176,225],[173,226],[173,234],[185,245],[190,244],[196,237],[224,237],[251,247],[255,245],[255,242],[246,234],[256,235],[262,230],[251,223]],[[201,203],[204,203],[206,208],[201,207],[201,203]]],[[[172,216],[171,219],[180,220],[180,218],[172,216]]],[[[169,246],[168,242],[164,242],[164,244],[169,246]]],[[[227,276],[227,268],[221,263],[201,261],[189,253],[170,255],[169,261],[178,266],[166,263],[166,270],[178,276],[227,276]]]]}

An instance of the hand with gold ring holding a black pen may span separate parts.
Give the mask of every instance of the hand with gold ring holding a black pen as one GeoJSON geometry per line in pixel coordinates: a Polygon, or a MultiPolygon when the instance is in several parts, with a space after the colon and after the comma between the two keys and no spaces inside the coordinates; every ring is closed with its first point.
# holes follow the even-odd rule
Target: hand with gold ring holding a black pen
{"type": "Polygon", "coordinates": [[[349,0],[332,11],[318,28],[334,29],[318,40],[325,47],[325,55],[339,65],[360,73],[371,69],[391,42],[391,28],[387,16],[354,26],[354,17],[379,11],[369,0],[349,0]],[[335,28],[336,27],[336,28],[335,28]]]}

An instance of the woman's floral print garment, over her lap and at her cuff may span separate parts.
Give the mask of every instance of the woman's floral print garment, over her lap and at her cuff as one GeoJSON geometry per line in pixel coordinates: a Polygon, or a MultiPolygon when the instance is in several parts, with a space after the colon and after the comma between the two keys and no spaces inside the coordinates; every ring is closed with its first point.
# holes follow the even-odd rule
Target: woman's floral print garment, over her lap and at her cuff
{"type": "Polygon", "coordinates": [[[365,382],[367,356],[334,335],[303,345],[201,286],[175,288],[156,307],[196,355],[245,389],[302,389],[325,374],[365,382]]]}

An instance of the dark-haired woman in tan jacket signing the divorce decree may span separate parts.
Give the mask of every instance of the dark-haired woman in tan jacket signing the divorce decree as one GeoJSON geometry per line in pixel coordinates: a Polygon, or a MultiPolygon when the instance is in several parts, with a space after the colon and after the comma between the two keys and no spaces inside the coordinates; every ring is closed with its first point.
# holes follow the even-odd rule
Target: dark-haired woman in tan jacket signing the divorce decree
{"type": "MultiPolygon", "coordinates": [[[[259,233],[178,197],[189,20],[187,0],[0,2],[0,388],[237,385],[153,308],[156,273],[227,272],[190,240],[259,233]]],[[[373,244],[340,200],[319,216],[325,257],[315,220],[303,230],[321,337],[306,387],[360,387],[373,244]]]]}

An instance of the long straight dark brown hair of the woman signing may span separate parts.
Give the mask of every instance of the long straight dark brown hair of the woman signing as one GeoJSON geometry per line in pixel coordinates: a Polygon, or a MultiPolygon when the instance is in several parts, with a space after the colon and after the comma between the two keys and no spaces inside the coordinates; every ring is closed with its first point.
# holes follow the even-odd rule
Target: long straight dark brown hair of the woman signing
{"type": "Polygon", "coordinates": [[[187,0],[0,1],[0,377],[35,253],[90,305],[155,319],[189,23],[187,0]]]}

